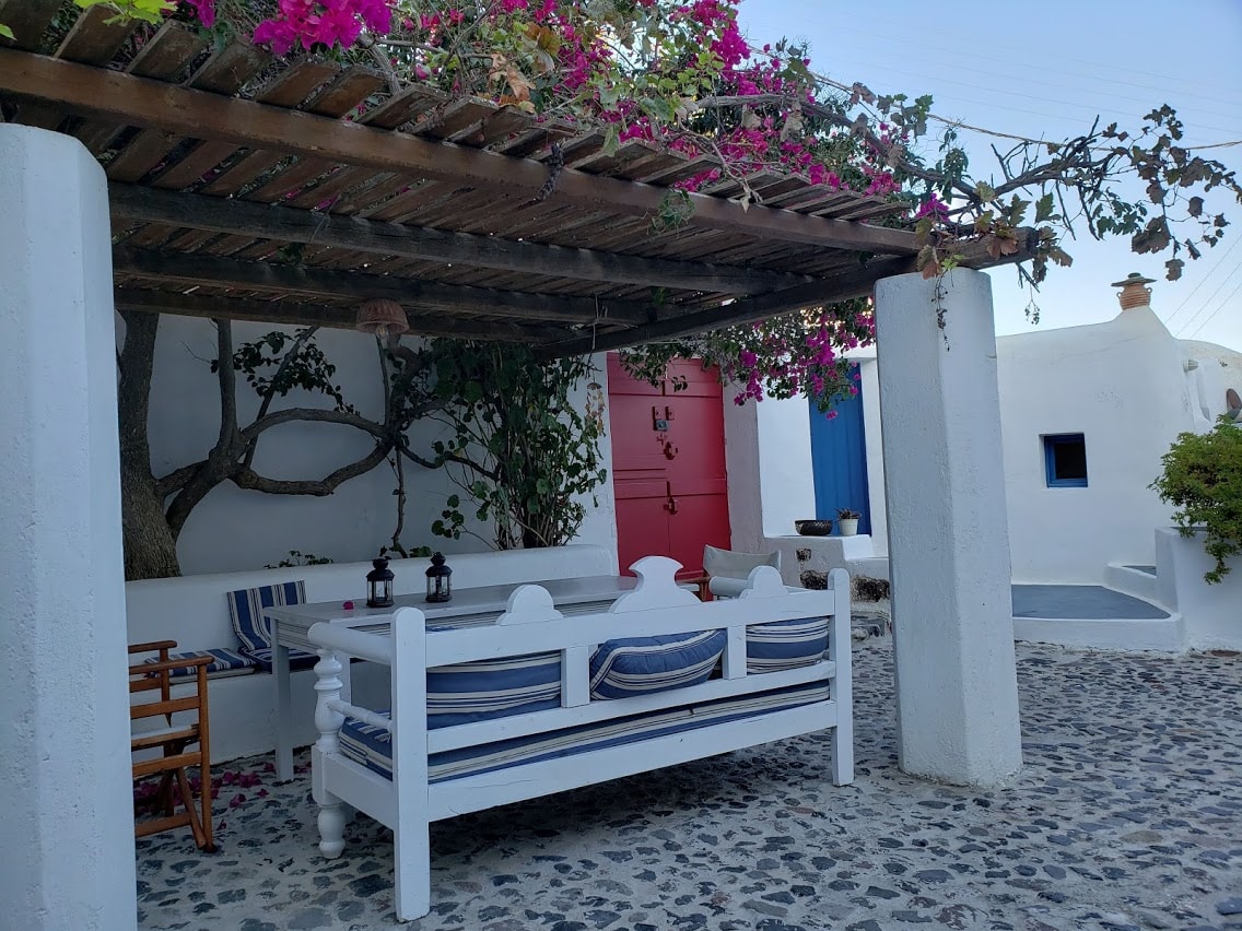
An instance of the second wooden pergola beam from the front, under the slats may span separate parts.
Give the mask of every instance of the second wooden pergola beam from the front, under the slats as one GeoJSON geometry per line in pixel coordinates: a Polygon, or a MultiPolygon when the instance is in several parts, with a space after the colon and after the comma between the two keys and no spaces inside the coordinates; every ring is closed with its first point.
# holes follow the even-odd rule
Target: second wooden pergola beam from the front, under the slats
{"type": "Polygon", "coordinates": [[[810,276],[517,242],[129,184],[109,184],[108,200],[114,220],[590,282],[754,294],[814,281],[810,276]]]}

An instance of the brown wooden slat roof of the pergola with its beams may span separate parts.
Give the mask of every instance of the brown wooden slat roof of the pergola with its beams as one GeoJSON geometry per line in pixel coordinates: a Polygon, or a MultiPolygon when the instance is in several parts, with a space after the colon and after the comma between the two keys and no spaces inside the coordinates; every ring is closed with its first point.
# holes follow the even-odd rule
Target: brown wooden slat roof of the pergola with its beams
{"type": "Polygon", "coordinates": [[[0,107],[104,166],[118,305],[348,328],[384,297],[416,331],[561,354],[858,297],[914,268],[900,204],[765,173],[746,179],[758,205],[723,178],[656,231],[669,185],[717,163],[638,140],[606,153],[594,128],[212,50],[174,21],[135,31],[103,7],[52,41],[61,9],[0,0],[16,35],[0,40],[0,107]]]}

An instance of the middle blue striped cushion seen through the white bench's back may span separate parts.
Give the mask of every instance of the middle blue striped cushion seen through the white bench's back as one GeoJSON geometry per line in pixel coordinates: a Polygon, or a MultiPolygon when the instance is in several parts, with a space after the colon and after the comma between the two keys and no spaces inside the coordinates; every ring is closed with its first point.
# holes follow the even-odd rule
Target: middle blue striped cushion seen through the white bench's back
{"type": "Polygon", "coordinates": [[[707,681],[724,652],[724,631],[609,641],[591,655],[591,698],[650,695],[707,681]]]}

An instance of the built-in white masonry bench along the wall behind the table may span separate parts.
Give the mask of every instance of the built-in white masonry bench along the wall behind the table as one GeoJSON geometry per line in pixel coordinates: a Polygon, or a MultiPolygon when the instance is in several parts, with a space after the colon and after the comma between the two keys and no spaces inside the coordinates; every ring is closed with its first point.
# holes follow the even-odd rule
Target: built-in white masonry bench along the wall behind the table
{"type": "MultiPolygon", "coordinates": [[[[616,575],[616,556],[592,544],[571,544],[539,550],[456,554],[448,557],[453,588],[483,585],[518,583],[532,578],[576,578],[616,575]]],[[[391,569],[399,595],[425,591],[425,559],[394,560],[391,569]]],[[[242,588],[303,580],[308,602],[366,597],[370,562],[334,562],[247,572],[219,572],[147,578],[125,582],[127,638],[129,643],[176,641],[178,650],[237,647],[237,634],[229,618],[226,596],[242,588]]],[[[360,695],[388,693],[388,677],[363,670],[355,679],[360,695]]],[[[215,678],[209,680],[211,709],[211,761],[214,763],[243,756],[271,752],[276,745],[274,677],[266,673],[215,678]]],[[[314,741],[314,674],[309,669],[293,673],[293,745],[314,741]]],[[[174,689],[185,690],[185,686],[174,689]]]]}

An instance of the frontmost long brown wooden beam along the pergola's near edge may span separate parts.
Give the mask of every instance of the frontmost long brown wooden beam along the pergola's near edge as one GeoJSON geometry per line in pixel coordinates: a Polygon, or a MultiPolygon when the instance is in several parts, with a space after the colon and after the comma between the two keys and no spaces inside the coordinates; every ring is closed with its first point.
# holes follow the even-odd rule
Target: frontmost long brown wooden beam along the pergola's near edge
{"type": "MultiPolygon", "coordinates": [[[[194,139],[499,191],[527,191],[534,196],[551,178],[548,165],[530,159],[431,142],[11,48],[0,48],[0,91],[53,103],[75,113],[184,133],[194,139]]],[[[660,210],[667,194],[666,187],[564,169],[556,175],[549,200],[646,217],[660,210]]],[[[700,194],[688,197],[693,206],[689,222],[694,226],[826,248],[891,254],[918,252],[914,235],[903,230],[763,206],[744,209],[741,204],[700,194]]]]}

